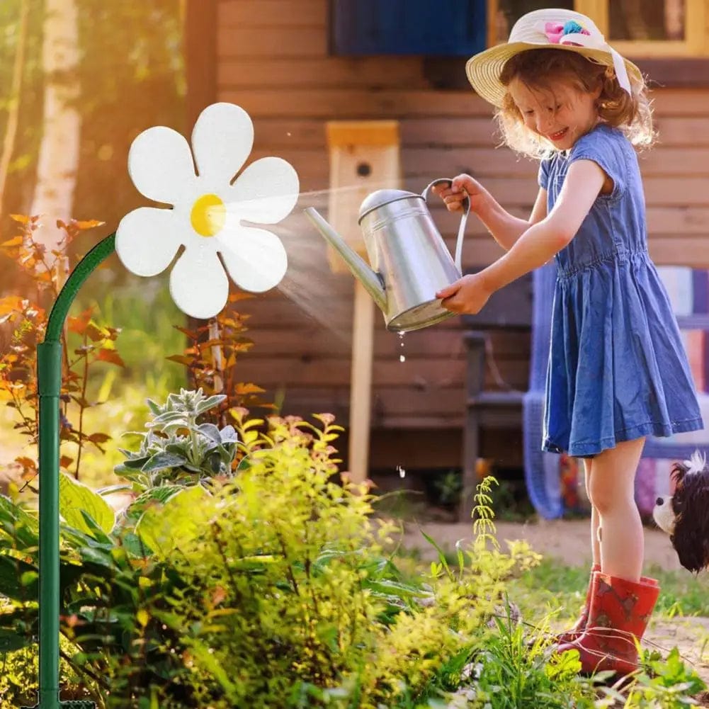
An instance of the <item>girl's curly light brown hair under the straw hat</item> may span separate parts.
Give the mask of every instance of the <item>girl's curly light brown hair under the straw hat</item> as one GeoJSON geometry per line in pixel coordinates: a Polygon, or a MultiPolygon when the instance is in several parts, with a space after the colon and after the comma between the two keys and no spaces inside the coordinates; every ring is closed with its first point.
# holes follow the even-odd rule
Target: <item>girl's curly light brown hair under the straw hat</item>
{"type": "MultiPolygon", "coordinates": [[[[570,78],[579,91],[590,93],[601,86],[596,102],[601,121],[623,130],[630,143],[638,148],[654,143],[652,106],[645,82],[631,77],[632,95],[628,95],[620,88],[613,67],[597,64],[576,52],[548,48],[520,52],[508,60],[500,81],[509,86],[512,79],[519,79],[532,89],[553,90],[560,77],[570,78]]],[[[515,152],[540,160],[554,154],[554,147],[545,138],[527,128],[509,92],[495,118],[503,143],[515,152]]]]}

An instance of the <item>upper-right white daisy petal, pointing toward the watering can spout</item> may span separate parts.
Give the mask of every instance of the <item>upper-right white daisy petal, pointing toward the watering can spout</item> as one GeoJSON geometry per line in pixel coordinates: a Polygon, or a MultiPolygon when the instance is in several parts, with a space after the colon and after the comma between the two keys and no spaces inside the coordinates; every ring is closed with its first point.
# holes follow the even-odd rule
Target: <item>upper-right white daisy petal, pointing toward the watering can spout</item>
{"type": "Polygon", "coordinates": [[[252,162],[229,191],[227,212],[258,224],[275,224],[286,218],[298,201],[298,173],[281,157],[252,162]]]}

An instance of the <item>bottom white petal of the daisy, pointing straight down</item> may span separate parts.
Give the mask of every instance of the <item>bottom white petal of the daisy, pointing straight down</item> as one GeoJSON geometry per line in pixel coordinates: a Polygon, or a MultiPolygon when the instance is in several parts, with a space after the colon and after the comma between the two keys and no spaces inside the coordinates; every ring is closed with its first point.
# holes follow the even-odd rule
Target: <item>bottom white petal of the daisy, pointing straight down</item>
{"type": "Polygon", "coordinates": [[[213,318],[225,306],[229,281],[212,247],[190,247],[170,274],[175,305],[193,318],[213,318]]]}

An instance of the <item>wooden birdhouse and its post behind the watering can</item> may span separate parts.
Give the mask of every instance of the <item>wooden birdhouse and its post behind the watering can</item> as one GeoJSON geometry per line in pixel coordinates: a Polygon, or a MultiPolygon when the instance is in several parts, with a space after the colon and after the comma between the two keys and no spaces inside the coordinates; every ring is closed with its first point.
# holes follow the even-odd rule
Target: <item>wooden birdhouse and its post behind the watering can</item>
{"type": "MultiPolygon", "coordinates": [[[[401,182],[398,121],[330,121],[330,193],[328,221],[359,255],[367,258],[357,224],[359,205],[376,189],[396,189],[401,182]]],[[[330,250],[330,267],[347,272],[342,258],[330,250]]],[[[350,377],[350,476],[367,479],[369,421],[372,409],[372,359],[376,306],[359,281],[354,284],[352,371],[350,377]]]]}

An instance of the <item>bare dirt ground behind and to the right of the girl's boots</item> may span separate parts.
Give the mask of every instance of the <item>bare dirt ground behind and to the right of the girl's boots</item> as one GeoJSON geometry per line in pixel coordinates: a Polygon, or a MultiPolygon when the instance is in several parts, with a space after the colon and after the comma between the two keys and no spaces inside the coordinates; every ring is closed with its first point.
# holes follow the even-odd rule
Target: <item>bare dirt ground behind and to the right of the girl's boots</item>
{"type": "MultiPolygon", "coordinates": [[[[533,523],[500,521],[495,526],[500,542],[527,540],[536,552],[559,559],[568,566],[591,565],[588,520],[540,520],[533,523]]],[[[469,540],[472,537],[472,525],[469,523],[423,523],[420,529],[444,549],[453,549],[457,540],[469,540]]],[[[424,559],[435,559],[435,549],[423,539],[418,525],[407,525],[404,545],[420,549],[424,559]]],[[[661,530],[645,529],[645,560],[647,566],[658,564],[662,569],[681,569],[669,537],[661,530]]],[[[684,661],[691,664],[709,685],[709,618],[654,618],[643,644],[655,647],[663,654],[676,646],[684,661]]],[[[706,705],[709,706],[709,703],[706,705]]]]}

